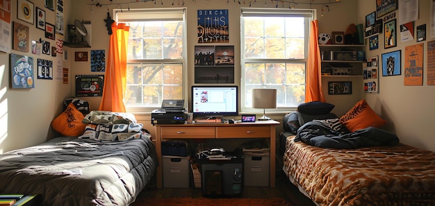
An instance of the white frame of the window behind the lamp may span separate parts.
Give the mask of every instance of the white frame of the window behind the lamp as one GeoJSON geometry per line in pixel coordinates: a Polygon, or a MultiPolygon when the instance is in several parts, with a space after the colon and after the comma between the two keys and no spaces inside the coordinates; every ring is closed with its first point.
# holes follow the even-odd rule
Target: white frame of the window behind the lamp
{"type": "MultiPolygon", "coordinates": [[[[310,22],[314,20],[316,13],[314,9],[303,10],[288,10],[288,9],[277,9],[277,8],[241,8],[240,13],[240,111],[246,112],[258,112],[259,109],[249,108],[245,105],[248,98],[247,85],[245,84],[245,64],[249,63],[305,63],[305,82],[304,86],[306,88],[306,65],[308,62],[309,54],[309,28],[310,22]],[[304,19],[304,59],[274,59],[274,58],[245,58],[245,33],[244,19],[243,17],[305,17],[304,19]]],[[[272,86],[272,85],[270,85],[272,86]]],[[[263,84],[263,87],[268,87],[268,85],[263,84]]],[[[250,93],[249,93],[250,94],[250,93]]],[[[277,100],[278,101],[278,100],[277,100]]],[[[288,112],[289,110],[295,110],[295,106],[282,106],[277,104],[276,109],[268,109],[269,113],[272,112],[288,112]]]]}

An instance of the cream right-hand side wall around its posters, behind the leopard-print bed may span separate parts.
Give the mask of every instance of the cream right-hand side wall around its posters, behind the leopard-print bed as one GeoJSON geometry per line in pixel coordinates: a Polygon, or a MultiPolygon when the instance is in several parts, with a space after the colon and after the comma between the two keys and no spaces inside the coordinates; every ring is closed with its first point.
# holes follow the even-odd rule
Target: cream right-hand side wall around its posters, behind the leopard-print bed
{"type": "MultiPolygon", "coordinates": [[[[381,76],[379,75],[379,94],[367,94],[366,99],[370,106],[381,117],[388,121],[386,129],[397,133],[400,141],[404,144],[410,144],[418,148],[425,148],[430,151],[435,151],[434,135],[432,129],[435,128],[435,97],[432,96],[435,92],[434,85],[427,85],[427,42],[430,39],[430,2],[418,1],[419,18],[414,22],[416,26],[426,24],[427,33],[426,41],[416,42],[411,40],[408,42],[400,42],[400,33],[397,33],[397,46],[391,49],[384,49],[384,33],[379,35],[379,49],[366,52],[368,55],[381,54],[401,50],[402,51],[402,75],[400,76],[381,76]],[[423,85],[422,86],[404,86],[404,49],[417,43],[424,43],[424,64],[423,64],[423,85]]],[[[367,3],[367,1],[358,1],[359,22],[365,21],[366,15],[376,10],[375,2],[367,3]]],[[[397,26],[400,14],[396,12],[397,26]]],[[[397,28],[399,31],[399,28],[397,28]]],[[[414,37],[415,38],[415,37],[414,37]]],[[[381,71],[381,65],[379,71],[381,71]]],[[[380,74],[380,73],[379,73],[380,74]]]]}

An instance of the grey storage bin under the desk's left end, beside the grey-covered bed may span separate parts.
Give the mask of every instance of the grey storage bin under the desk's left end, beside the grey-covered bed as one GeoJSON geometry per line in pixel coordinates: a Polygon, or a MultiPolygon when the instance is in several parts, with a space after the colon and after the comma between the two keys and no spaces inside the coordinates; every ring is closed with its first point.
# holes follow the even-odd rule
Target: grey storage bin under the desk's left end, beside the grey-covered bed
{"type": "Polygon", "coordinates": [[[163,187],[188,188],[190,166],[188,157],[162,156],[163,187]]]}

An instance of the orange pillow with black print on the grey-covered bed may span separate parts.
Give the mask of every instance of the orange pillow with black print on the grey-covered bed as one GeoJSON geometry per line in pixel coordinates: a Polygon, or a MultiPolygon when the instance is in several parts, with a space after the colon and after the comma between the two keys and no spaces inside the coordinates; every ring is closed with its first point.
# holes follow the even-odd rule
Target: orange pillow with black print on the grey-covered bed
{"type": "Polygon", "coordinates": [[[69,103],[65,111],[51,121],[51,127],[60,135],[80,136],[85,132],[86,124],[81,122],[84,118],[85,116],[77,110],[74,104],[69,103]]]}

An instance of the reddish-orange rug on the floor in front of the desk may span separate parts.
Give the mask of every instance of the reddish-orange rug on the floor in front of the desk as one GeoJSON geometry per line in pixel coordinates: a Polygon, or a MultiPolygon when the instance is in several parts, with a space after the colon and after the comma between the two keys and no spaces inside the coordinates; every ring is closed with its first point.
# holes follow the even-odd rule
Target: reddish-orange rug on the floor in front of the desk
{"type": "Polygon", "coordinates": [[[138,198],[131,206],[290,206],[284,198],[138,198]]]}

